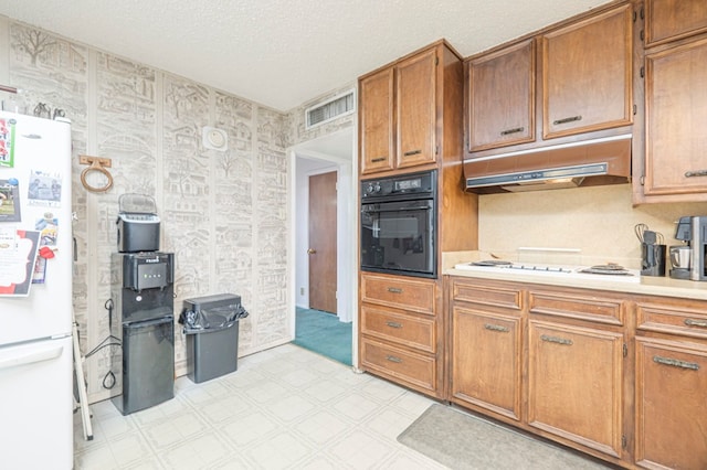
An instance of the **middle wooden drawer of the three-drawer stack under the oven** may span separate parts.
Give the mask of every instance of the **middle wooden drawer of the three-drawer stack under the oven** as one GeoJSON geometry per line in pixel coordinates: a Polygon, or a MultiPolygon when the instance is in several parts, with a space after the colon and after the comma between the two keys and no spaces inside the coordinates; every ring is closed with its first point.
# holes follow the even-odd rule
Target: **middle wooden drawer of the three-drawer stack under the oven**
{"type": "Polygon", "coordinates": [[[361,306],[361,333],[425,352],[436,351],[435,322],[429,317],[361,306]]]}

